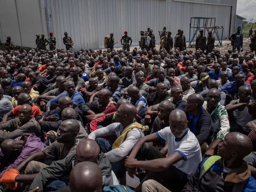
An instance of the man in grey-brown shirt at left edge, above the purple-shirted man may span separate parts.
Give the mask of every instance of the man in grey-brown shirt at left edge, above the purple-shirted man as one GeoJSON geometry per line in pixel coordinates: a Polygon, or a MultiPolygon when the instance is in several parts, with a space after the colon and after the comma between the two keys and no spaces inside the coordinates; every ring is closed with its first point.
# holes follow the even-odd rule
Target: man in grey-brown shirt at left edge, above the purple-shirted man
{"type": "Polygon", "coordinates": [[[32,116],[32,107],[29,104],[19,107],[17,118],[0,125],[0,141],[14,139],[24,133],[35,133],[38,137],[41,134],[40,125],[32,116]]]}

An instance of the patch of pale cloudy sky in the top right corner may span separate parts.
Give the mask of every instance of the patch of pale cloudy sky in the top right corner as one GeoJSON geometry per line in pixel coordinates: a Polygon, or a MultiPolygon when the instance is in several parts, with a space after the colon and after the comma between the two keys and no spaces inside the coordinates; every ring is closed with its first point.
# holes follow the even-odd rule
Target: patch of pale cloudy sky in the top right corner
{"type": "Polygon", "coordinates": [[[246,18],[246,21],[253,19],[256,22],[256,0],[237,0],[236,14],[246,18]]]}

